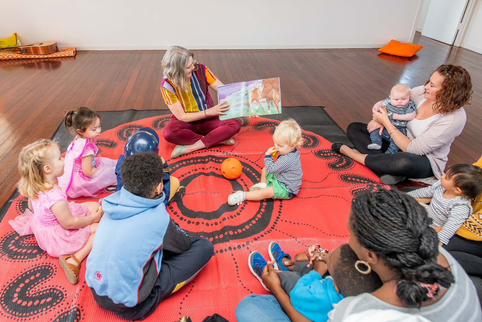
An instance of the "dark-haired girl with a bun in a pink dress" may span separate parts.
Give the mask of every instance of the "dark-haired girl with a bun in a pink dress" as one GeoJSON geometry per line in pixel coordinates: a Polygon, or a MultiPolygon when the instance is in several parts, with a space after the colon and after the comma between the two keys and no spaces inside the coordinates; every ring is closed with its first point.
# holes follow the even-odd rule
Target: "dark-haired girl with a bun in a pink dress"
{"type": "Polygon", "coordinates": [[[88,107],[79,107],[65,114],[64,123],[75,139],[67,148],[65,173],[59,177],[60,188],[70,198],[114,192],[117,160],[97,156],[99,149],[95,146],[101,131],[99,115],[88,107]]]}

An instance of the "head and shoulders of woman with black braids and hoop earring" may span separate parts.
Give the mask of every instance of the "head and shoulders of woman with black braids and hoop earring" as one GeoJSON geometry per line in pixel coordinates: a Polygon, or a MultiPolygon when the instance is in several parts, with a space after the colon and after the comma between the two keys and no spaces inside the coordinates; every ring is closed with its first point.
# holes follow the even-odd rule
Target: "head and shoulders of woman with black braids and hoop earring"
{"type": "Polygon", "coordinates": [[[410,196],[380,189],[351,202],[349,245],[360,271],[374,270],[383,282],[372,293],[341,300],[328,313],[343,321],[368,309],[395,309],[429,321],[482,321],[474,285],[457,261],[438,247],[437,233],[421,205],[410,196]]]}

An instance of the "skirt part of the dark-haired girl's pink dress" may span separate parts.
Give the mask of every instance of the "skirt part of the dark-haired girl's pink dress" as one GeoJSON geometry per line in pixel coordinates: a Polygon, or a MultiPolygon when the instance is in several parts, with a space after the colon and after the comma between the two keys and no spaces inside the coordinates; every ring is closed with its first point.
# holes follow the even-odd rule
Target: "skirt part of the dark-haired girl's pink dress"
{"type": "Polygon", "coordinates": [[[74,171],[72,184],[67,190],[68,197],[95,197],[99,193],[106,192],[107,187],[117,184],[116,164],[117,160],[97,157],[95,166],[99,170],[92,176],[87,177],[81,171],[74,171]]]}

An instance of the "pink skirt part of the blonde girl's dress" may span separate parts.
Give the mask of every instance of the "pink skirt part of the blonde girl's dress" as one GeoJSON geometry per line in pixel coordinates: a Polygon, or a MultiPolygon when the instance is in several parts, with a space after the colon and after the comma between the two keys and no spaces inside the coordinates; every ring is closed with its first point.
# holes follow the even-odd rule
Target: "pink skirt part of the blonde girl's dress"
{"type": "MultiPolygon", "coordinates": [[[[68,209],[74,217],[90,215],[89,209],[81,203],[70,201],[68,209]]],[[[21,236],[34,234],[40,248],[54,257],[77,252],[84,247],[90,236],[90,225],[79,229],[66,229],[60,223],[43,226],[29,209],[8,223],[21,236]]]]}

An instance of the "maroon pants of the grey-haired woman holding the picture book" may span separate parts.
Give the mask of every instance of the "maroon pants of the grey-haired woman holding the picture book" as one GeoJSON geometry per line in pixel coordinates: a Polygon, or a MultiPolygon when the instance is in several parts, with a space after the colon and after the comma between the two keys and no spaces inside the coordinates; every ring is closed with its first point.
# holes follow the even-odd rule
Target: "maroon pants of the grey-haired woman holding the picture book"
{"type": "Polygon", "coordinates": [[[218,116],[184,122],[173,115],[162,134],[167,142],[177,145],[191,145],[201,140],[206,148],[226,141],[241,130],[241,123],[235,119],[221,121],[218,116]]]}

